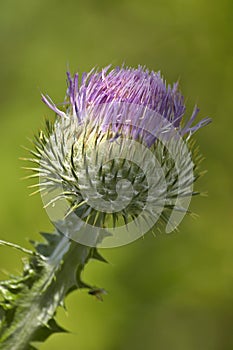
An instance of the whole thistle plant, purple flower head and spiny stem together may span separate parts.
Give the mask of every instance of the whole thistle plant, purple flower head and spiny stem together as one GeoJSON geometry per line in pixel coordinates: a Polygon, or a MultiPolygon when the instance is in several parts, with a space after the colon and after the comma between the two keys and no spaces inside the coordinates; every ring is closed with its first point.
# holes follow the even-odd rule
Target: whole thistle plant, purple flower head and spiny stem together
{"type": "Polygon", "coordinates": [[[177,228],[186,212],[200,155],[192,135],[209,123],[186,120],[178,83],[143,67],[106,67],[81,77],[67,73],[68,89],[55,114],[34,139],[30,177],[55,232],[33,242],[23,275],[0,284],[2,349],[33,349],[64,331],[54,317],[73,290],[104,289],[81,280],[90,259],[105,261],[99,247],[128,244],[148,231],[177,228]]]}

